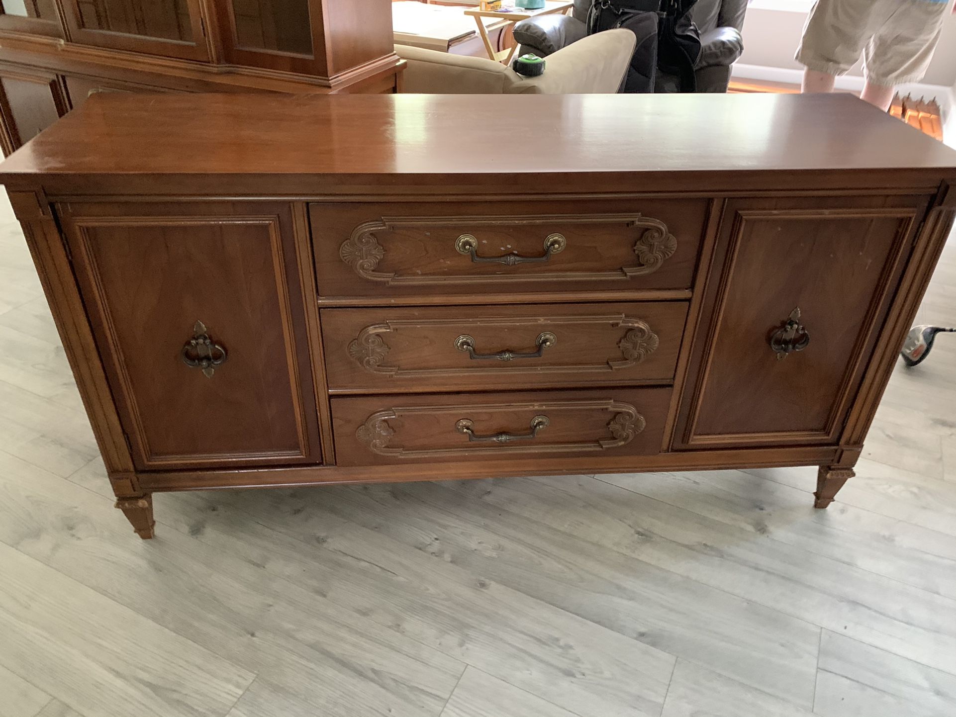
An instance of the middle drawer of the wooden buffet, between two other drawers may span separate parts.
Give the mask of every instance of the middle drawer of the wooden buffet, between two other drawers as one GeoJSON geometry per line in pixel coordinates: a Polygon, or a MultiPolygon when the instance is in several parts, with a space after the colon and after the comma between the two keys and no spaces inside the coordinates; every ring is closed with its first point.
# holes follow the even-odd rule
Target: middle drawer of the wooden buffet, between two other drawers
{"type": "Polygon", "coordinates": [[[673,380],[684,301],[323,309],[333,393],[673,380]]]}

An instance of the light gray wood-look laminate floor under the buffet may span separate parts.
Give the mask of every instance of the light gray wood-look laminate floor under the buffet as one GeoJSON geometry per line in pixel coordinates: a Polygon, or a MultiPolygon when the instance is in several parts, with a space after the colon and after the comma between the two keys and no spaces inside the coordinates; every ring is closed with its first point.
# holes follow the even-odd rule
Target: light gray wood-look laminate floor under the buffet
{"type": "MultiPolygon", "coordinates": [[[[921,320],[956,323],[956,246],[921,320]]],[[[956,337],[813,468],[113,501],[0,216],[0,717],[956,714],[956,337]]]]}

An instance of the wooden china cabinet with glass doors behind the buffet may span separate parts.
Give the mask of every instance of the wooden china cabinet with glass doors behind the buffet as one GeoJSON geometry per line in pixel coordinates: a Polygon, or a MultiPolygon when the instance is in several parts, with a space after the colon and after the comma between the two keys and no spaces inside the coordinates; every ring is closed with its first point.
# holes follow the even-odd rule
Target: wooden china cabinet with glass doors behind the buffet
{"type": "Polygon", "coordinates": [[[0,0],[10,154],[90,92],[391,93],[390,0],[0,0]]]}

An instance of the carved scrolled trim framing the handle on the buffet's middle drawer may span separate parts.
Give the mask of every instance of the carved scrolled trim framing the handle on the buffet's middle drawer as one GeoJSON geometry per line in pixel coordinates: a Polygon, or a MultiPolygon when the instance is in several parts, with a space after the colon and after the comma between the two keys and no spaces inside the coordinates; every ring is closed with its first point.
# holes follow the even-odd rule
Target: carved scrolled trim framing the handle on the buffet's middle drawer
{"type": "MultiPolygon", "coordinates": [[[[483,316],[483,317],[454,317],[454,318],[408,318],[383,321],[380,324],[370,324],[359,332],[359,336],[348,345],[349,356],[363,369],[372,374],[387,377],[434,377],[457,376],[462,374],[522,374],[522,373],[597,373],[613,372],[629,368],[641,363],[653,354],[661,343],[660,337],[653,329],[640,318],[622,314],[614,315],[567,315],[553,316],[548,319],[549,326],[567,324],[609,324],[612,329],[622,328],[617,342],[619,357],[609,357],[602,363],[581,363],[578,365],[542,365],[492,363],[481,364],[469,362],[465,366],[448,366],[422,369],[403,369],[401,366],[390,365],[386,362],[391,351],[384,338],[388,334],[402,331],[402,329],[419,327],[442,327],[449,330],[449,343],[461,333],[479,326],[528,326],[532,331],[541,327],[539,318],[515,316],[483,316]]],[[[465,355],[462,355],[465,359],[465,355]]]]}

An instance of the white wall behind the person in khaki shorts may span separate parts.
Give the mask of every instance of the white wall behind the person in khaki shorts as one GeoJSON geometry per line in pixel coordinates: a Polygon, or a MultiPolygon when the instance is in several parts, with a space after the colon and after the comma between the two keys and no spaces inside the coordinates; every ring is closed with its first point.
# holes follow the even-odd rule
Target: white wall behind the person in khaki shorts
{"type": "MultiPolygon", "coordinates": [[[[807,3],[809,4],[809,3],[807,3]]],[[[798,0],[775,2],[775,0],[756,0],[747,11],[744,23],[744,54],[740,62],[746,65],[762,65],[792,70],[803,70],[803,66],[793,59],[793,53],[800,43],[803,23],[807,19],[806,11],[800,10],[804,3],[798,0]],[[795,10],[772,10],[774,5],[787,6],[795,10]]],[[[956,85],[956,15],[946,9],[943,37],[933,55],[933,61],[923,79],[923,83],[953,87],[956,85]]],[[[850,71],[850,75],[863,74],[860,63],[850,71]]]]}

